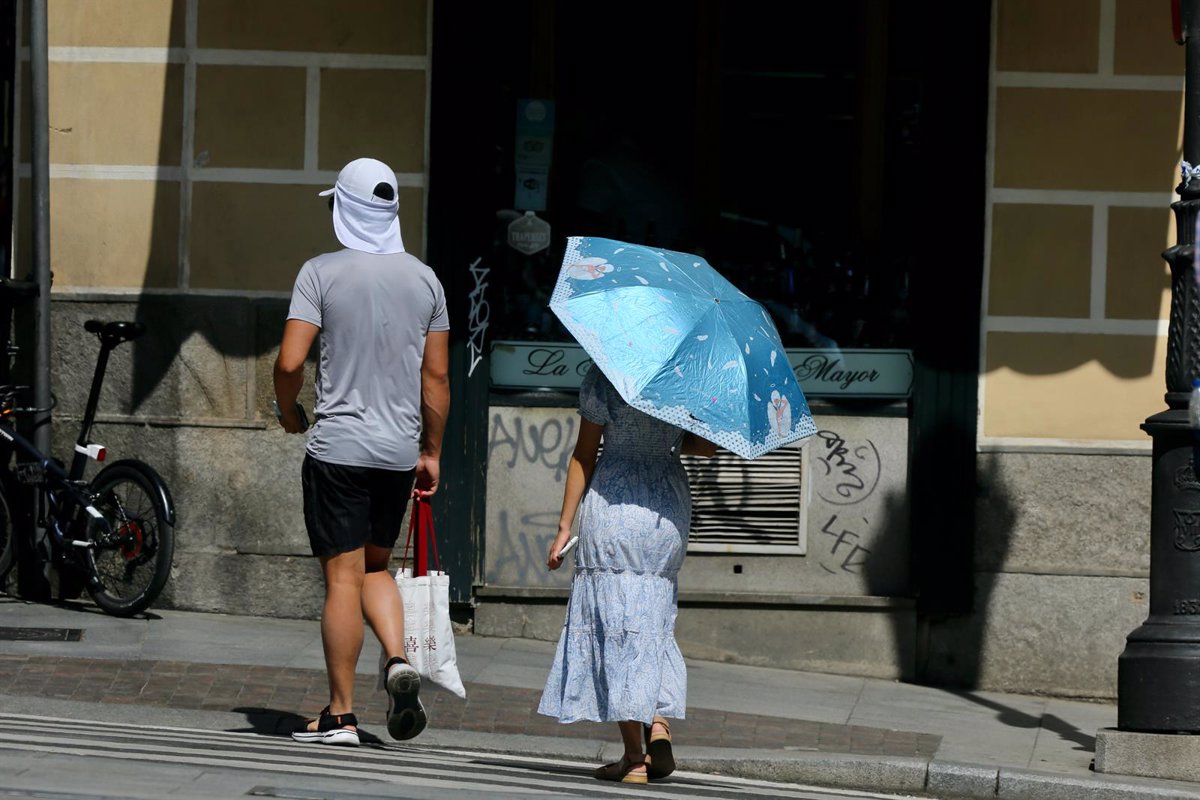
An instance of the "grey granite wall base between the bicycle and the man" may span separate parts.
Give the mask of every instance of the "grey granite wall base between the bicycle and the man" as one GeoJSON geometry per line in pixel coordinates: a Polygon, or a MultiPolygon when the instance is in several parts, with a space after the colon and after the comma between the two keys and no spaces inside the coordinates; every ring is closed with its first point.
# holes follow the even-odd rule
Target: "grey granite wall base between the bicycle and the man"
{"type": "MultiPolygon", "coordinates": [[[[98,343],[86,319],[149,332],[113,351],[92,439],[162,474],[178,510],[175,563],[160,607],[314,618],[323,588],[300,492],[304,437],[271,414],[271,365],[287,302],[156,296],[54,302],[54,449],[78,435],[98,343]]],[[[312,408],[312,362],[301,402],[312,408]]],[[[97,469],[92,464],[91,470],[97,469]]]]}

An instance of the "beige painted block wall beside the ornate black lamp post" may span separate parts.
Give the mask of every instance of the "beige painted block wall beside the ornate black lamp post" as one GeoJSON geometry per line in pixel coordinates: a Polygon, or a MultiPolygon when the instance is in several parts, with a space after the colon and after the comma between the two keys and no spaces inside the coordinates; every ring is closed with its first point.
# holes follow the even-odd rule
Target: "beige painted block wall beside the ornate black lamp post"
{"type": "Polygon", "coordinates": [[[992,44],[980,444],[1146,446],[1181,157],[1170,6],[996,0],[992,44]]]}

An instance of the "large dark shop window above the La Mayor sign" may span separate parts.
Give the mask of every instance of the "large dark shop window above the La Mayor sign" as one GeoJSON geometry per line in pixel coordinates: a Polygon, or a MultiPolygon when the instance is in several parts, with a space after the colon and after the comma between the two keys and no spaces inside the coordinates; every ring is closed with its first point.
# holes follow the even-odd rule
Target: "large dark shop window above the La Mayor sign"
{"type": "MultiPolygon", "coordinates": [[[[788,347],[907,347],[919,23],[836,4],[487,4],[493,339],[570,341],[546,308],[566,235],[704,255],[788,347]],[[552,245],[506,245],[517,106],[553,101],[552,245]]],[[[912,17],[912,18],[910,18],[912,17]]],[[[437,80],[437,76],[434,76],[437,80]]],[[[434,109],[437,113],[437,109],[434,109]]]]}

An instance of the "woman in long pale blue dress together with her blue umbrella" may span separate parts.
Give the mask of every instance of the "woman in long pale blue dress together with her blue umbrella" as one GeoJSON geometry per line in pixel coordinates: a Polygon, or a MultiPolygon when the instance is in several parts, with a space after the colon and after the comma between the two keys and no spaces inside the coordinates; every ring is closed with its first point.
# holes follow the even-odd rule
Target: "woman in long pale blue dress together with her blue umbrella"
{"type": "Polygon", "coordinates": [[[691,518],[679,455],[712,456],[716,441],[755,458],[816,427],[770,315],[702,258],[571,237],[550,307],[598,366],[580,387],[546,559],[562,565],[578,512],[571,599],[538,710],[617,722],[625,756],[595,775],[646,783],[674,769],[666,718],[684,716],[688,692],[674,640],[691,518]]]}

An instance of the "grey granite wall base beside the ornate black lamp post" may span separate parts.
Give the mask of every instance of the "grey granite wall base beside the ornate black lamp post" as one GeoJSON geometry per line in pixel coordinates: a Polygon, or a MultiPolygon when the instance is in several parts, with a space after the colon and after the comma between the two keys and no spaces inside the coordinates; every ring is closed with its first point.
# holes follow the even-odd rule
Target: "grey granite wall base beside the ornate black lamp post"
{"type": "Polygon", "coordinates": [[[976,612],[926,620],[934,684],[1116,697],[1124,638],[1150,612],[1150,456],[984,452],[976,612]]]}

